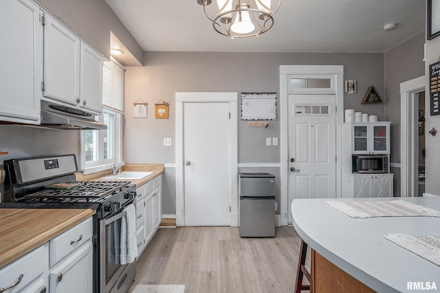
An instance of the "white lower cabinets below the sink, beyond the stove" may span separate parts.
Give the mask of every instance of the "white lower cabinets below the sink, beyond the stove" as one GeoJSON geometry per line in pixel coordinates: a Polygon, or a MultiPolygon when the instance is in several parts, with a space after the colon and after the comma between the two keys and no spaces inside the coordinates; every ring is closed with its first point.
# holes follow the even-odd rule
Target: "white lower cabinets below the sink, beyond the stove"
{"type": "Polygon", "coordinates": [[[137,257],[162,221],[162,175],[136,189],[137,257]]]}

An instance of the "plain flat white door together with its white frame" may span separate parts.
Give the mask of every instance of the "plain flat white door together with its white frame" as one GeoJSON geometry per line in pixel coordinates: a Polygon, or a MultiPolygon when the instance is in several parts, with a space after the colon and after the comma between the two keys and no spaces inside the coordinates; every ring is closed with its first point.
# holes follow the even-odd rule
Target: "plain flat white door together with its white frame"
{"type": "Polygon", "coordinates": [[[176,224],[237,226],[237,93],[176,93],[176,224]]]}

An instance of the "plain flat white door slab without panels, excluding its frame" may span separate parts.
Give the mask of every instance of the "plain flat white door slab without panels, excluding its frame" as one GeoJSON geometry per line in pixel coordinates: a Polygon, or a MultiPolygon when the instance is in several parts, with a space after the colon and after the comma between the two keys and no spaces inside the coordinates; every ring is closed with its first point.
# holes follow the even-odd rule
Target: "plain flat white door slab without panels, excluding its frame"
{"type": "Polygon", "coordinates": [[[230,104],[184,103],[185,226],[230,225],[230,104]]]}

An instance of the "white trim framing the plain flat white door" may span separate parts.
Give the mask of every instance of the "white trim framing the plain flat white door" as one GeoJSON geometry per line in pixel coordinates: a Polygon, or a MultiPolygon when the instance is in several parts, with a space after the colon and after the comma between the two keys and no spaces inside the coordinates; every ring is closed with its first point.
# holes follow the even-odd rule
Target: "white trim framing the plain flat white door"
{"type": "Polygon", "coordinates": [[[176,172],[176,225],[185,225],[185,187],[184,187],[184,104],[185,103],[225,102],[230,106],[230,225],[239,225],[238,198],[238,121],[236,92],[177,92],[175,94],[175,172],[176,172]]]}

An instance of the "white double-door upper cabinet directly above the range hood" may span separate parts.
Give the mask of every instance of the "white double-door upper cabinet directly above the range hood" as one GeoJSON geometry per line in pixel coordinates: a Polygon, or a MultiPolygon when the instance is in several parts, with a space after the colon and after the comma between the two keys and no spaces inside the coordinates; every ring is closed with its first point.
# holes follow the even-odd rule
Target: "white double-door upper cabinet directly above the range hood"
{"type": "Polygon", "coordinates": [[[44,97],[102,112],[102,55],[46,14],[44,97]]]}

